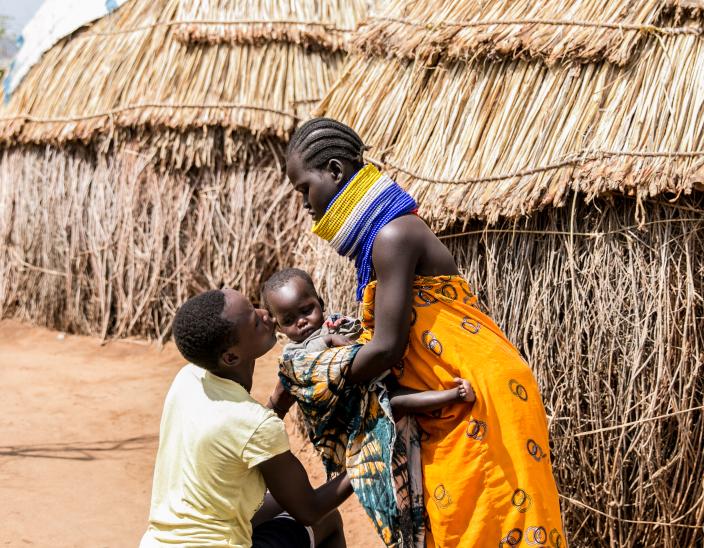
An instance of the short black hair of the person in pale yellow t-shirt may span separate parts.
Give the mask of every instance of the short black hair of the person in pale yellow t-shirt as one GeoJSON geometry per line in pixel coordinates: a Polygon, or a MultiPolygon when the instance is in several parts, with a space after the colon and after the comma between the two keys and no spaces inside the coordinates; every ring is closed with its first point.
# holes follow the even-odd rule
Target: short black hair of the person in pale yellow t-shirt
{"type": "Polygon", "coordinates": [[[174,340],[189,362],[210,371],[218,368],[220,356],[237,338],[234,323],[222,317],[225,294],[219,289],[188,299],[176,312],[174,340]]]}

